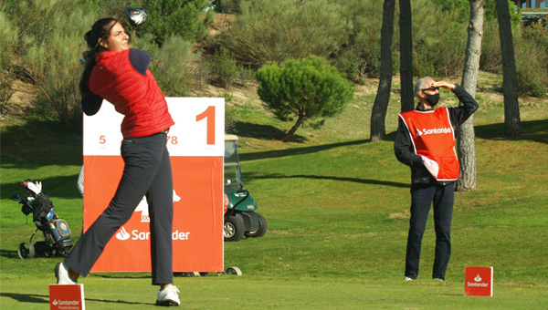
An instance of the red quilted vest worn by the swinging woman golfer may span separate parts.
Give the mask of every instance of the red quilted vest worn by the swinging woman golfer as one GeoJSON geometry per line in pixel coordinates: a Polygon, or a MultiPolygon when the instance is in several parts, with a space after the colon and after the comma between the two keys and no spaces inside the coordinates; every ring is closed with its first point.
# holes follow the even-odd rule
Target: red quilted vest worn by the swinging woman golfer
{"type": "Polygon", "coordinates": [[[106,51],[96,56],[90,75],[90,90],[114,105],[124,115],[124,138],[146,137],[174,125],[162,90],[153,74],[137,72],[130,62],[130,49],[106,51]]]}

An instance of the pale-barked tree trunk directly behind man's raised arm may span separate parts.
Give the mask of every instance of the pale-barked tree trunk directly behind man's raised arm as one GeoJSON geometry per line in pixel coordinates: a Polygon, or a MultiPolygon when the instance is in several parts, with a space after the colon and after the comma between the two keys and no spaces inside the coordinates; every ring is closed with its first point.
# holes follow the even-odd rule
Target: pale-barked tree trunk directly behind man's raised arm
{"type": "MultiPolygon", "coordinates": [[[[472,97],[476,96],[478,84],[479,57],[481,56],[481,38],[483,36],[483,0],[469,0],[470,21],[466,59],[462,72],[462,87],[472,97]]],[[[456,191],[470,191],[477,187],[476,177],[476,143],[474,134],[474,116],[465,121],[457,132],[458,161],[460,177],[455,186],[456,191]]]]}

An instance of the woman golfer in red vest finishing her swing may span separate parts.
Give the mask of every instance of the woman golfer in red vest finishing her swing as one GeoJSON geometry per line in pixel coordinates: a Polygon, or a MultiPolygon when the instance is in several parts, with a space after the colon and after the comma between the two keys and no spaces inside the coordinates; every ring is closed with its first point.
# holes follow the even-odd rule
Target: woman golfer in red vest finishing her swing
{"type": "Polygon", "coordinates": [[[82,235],[67,259],[57,264],[58,284],[76,284],[80,275],[90,273],[112,235],[129,221],[146,195],[151,217],[153,285],[160,285],[156,305],[179,305],[179,291],[173,285],[173,179],[165,147],[167,130],[174,120],[147,69],[151,56],[128,45],[129,36],[117,20],[100,19],[85,39],[91,50],[80,81],[82,109],[93,115],[105,98],[124,115],[124,169],[108,208],[82,235]]]}

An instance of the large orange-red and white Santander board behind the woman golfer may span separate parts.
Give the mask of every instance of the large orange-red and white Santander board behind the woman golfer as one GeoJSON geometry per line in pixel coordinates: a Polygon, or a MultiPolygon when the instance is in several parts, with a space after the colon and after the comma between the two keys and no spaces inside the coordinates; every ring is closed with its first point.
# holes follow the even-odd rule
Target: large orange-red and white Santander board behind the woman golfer
{"type": "MultiPolygon", "coordinates": [[[[174,272],[223,271],[224,98],[166,98],[174,176],[174,272]]],[[[84,117],[84,231],[107,208],[123,171],[123,116],[104,101],[84,117]]],[[[107,244],[92,272],[150,272],[146,199],[107,244]]]]}

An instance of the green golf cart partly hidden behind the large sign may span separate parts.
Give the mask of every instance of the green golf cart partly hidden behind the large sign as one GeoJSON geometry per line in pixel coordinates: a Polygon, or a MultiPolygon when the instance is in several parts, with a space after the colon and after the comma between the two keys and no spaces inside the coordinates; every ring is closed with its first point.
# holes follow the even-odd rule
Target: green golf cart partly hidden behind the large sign
{"type": "Polygon", "coordinates": [[[268,224],[264,216],[255,212],[257,202],[244,190],[237,156],[237,136],[225,136],[225,194],[228,206],[225,212],[225,241],[238,241],[245,235],[262,237],[268,224]]]}

